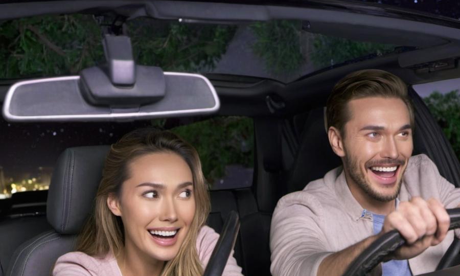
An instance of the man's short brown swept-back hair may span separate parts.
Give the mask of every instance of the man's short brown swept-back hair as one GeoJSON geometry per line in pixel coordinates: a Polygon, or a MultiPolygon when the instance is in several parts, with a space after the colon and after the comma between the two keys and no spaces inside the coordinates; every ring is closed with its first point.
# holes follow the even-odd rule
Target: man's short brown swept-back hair
{"type": "Polygon", "coordinates": [[[409,110],[413,129],[413,106],[407,94],[407,85],[399,77],[377,69],[353,72],[334,86],[326,104],[327,129],[333,126],[344,135],[345,124],[350,120],[348,102],[368,97],[401,99],[409,110]]]}

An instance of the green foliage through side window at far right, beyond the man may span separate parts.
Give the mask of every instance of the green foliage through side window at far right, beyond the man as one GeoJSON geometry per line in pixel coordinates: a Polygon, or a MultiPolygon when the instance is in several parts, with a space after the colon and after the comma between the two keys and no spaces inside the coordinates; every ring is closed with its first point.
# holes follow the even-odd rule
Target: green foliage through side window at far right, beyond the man
{"type": "Polygon", "coordinates": [[[435,91],[424,101],[444,131],[455,154],[460,159],[460,95],[458,90],[443,95],[435,91]]]}

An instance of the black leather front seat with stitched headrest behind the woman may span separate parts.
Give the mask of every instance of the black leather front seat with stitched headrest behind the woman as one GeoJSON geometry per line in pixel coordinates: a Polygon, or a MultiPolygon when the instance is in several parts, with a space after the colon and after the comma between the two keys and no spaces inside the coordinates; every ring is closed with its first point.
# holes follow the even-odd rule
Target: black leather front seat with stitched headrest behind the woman
{"type": "Polygon", "coordinates": [[[59,256],[73,250],[76,235],[90,213],[108,146],[66,149],[51,179],[47,218],[53,230],[19,246],[6,275],[49,276],[59,256]]]}

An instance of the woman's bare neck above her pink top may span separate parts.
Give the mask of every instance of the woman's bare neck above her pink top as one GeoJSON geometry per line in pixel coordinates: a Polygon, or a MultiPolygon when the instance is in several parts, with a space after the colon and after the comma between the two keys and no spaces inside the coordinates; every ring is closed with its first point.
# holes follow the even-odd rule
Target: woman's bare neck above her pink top
{"type": "Polygon", "coordinates": [[[138,250],[125,246],[117,257],[117,263],[123,276],[159,276],[164,261],[152,259],[138,250]]]}

